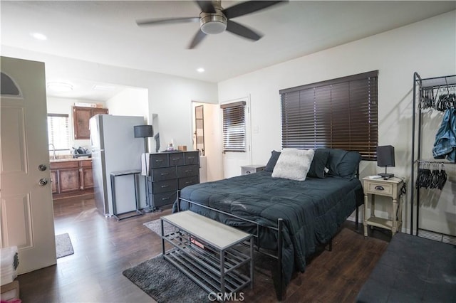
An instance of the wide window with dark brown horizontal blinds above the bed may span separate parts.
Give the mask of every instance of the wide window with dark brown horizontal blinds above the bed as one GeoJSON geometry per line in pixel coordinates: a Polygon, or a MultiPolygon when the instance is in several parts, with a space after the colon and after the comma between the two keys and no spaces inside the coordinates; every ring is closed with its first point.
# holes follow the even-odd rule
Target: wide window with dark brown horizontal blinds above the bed
{"type": "Polygon", "coordinates": [[[280,90],[282,147],[330,147],[377,159],[378,70],[280,90]]]}

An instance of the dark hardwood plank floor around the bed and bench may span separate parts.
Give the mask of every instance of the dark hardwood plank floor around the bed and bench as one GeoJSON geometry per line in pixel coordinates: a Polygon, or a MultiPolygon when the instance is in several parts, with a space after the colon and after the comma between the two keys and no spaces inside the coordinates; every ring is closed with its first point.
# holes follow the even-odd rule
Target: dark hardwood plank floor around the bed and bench
{"type": "MultiPolygon", "coordinates": [[[[167,213],[170,209],[117,221],[101,216],[92,196],[54,201],[56,235],[68,233],[75,253],[19,275],[22,302],[155,302],[122,272],[160,254],[160,237],[142,223],[167,213]]],[[[354,302],[390,240],[380,230],[364,238],[362,229],[346,221],[333,250],[319,252],[306,272],[294,276],[284,302],[354,302]]],[[[256,272],[244,302],[276,302],[272,285],[271,277],[256,272]]]]}

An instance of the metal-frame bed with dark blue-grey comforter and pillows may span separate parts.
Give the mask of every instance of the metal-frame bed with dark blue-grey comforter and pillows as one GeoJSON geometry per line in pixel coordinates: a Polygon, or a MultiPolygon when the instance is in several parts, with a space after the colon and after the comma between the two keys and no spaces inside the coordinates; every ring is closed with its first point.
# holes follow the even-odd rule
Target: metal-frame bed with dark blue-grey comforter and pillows
{"type": "Polygon", "coordinates": [[[289,156],[291,149],[272,151],[264,171],[187,186],[174,206],[174,211],[194,211],[254,234],[257,248],[274,252],[278,260],[274,284],[279,300],[291,275],[304,272],[306,257],[318,245],[331,243],[363,203],[358,152],[310,151],[312,155],[304,157],[289,156]],[[290,163],[284,164],[287,160],[290,163]]]}

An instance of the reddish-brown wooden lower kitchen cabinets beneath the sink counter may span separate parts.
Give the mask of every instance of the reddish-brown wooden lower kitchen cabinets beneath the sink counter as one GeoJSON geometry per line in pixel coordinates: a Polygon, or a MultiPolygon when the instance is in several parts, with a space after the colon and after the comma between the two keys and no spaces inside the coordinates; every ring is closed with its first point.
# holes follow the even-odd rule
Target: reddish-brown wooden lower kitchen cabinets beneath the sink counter
{"type": "Polygon", "coordinates": [[[51,161],[51,179],[53,198],[91,193],[92,160],[51,161]]]}

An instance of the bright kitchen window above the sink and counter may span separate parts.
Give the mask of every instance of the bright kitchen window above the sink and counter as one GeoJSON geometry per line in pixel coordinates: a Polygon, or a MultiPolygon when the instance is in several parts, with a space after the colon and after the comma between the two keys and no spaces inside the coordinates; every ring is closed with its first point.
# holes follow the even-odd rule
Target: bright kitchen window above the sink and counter
{"type": "Polygon", "coordinates": [[[48,139],[56,150],[70,149],[68,115],[48,114],[48,139]]]}

